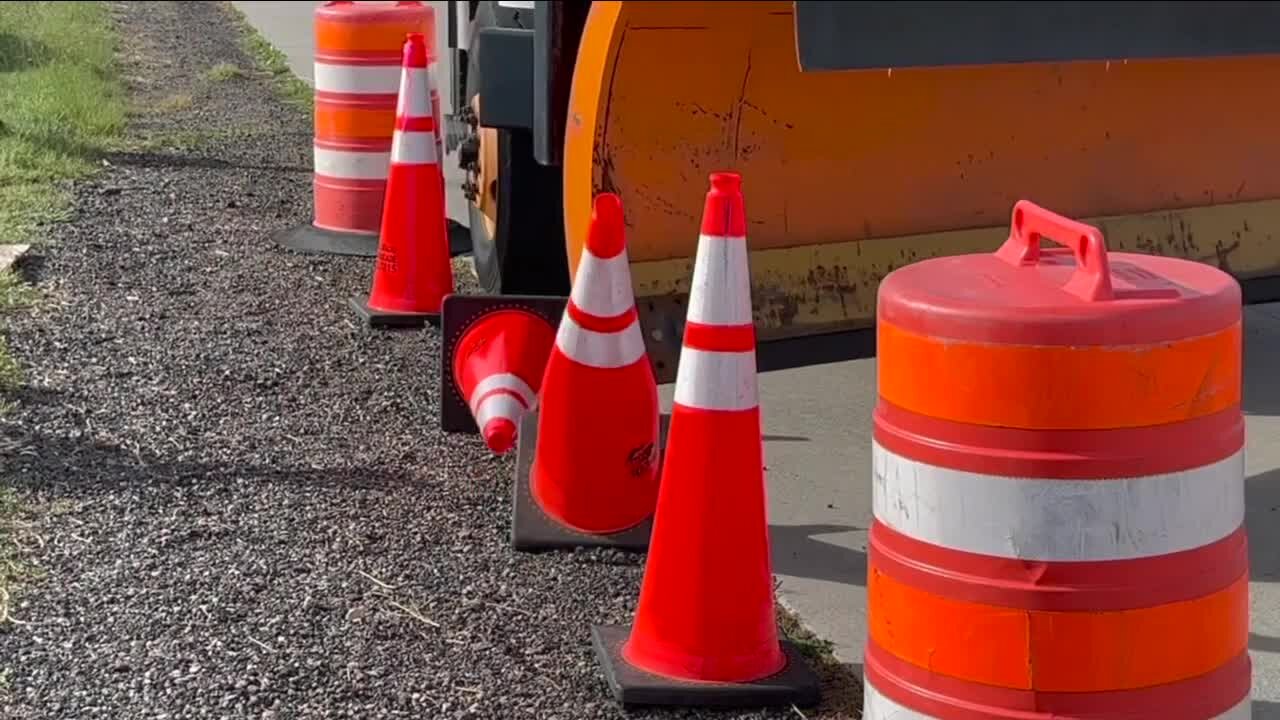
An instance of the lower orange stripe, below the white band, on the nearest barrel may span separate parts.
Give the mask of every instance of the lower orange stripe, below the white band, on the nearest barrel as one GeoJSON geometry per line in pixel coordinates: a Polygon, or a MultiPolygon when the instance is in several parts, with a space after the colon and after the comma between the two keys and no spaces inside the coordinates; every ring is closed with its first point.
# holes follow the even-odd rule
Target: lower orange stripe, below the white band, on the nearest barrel
{"type": "Polygon", "coordinates": [[[1103,692],[1175,683],[1248,643],[1248,574],[1206,596],[1108,612],[963,602],[897,582],[870,564],[872,639],[940,675],[1023,691],[1103,692]]]}

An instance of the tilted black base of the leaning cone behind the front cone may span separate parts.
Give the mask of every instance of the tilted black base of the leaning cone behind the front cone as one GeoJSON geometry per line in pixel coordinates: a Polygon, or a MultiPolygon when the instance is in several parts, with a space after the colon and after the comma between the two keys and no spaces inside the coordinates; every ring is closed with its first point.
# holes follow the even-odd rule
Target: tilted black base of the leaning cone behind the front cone
{"type": "MultiPolygon", "coordinates": [[[[667,437],[667,416],[658,418],[658,450],[655,456],[660,462],[662,445],[667,437]]],[[[549,516],[534,501],[530,484],[530,470],[534,465],[534,450],[538,447],[538,413],[525,415],[520,424],[516,441],[516,474],[512,484],[511,544],[521,552],[540,552],[553,550],[573,550],[577,547],[612,547],[625,552],[644,552],[649,550],[649,534],[653,532],[653,515],[621,533],[584,533],[564,525],[549,516]]],[[[660,468],[659,468],[660,470],[660,468]]]]}

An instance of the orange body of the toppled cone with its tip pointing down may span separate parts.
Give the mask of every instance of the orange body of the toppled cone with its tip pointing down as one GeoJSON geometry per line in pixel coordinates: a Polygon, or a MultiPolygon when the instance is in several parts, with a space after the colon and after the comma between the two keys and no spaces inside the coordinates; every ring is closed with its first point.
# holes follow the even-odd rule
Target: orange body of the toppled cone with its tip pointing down
{"type": "Polygon", "coordinates": [[[489,450],[516,443],[525,414],[538,406],[556,328],[525,310],[498,310],[468,327],[453,351],[453,379],[489,450]]]}

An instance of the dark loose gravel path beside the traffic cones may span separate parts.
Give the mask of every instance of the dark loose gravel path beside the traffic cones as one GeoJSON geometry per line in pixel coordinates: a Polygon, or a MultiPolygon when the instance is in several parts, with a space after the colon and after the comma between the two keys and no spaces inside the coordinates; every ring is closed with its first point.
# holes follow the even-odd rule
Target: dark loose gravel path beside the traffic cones
{"type": "Polygon", "coordinates": [[[509,550],[511,460],[439,430],[438,334],[364,331],[367,261],[270,240],[310,218],[308,115],[206,74],[252,68],[219,4],[113,10],[137,149],[77,188],[6,328],[41,577],[0,626],[0,716],[800,716],[613,703],[589,628],[628,620],[641,559],[509,550]]]}

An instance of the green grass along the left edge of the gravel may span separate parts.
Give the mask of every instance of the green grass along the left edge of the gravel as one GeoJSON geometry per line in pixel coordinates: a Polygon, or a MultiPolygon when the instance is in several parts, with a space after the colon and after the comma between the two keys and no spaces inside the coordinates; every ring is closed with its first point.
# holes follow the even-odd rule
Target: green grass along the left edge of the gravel
{"type": "MultiPolygon", "coordinates": [[[[0,4],[0,243],[41,243],[41,224],[67,217],[68,183],[101,167],[125,123],[115,36],[104,3],[0,4]]],[[[37,300],[0,273],[0,319],[37,300]]],[[[0,414],[12,409],[22,368],[0,333],[0,414]]],[[[13,491],[0,484],[0,625],[13,584],[29,574],[13,491]]]]}

